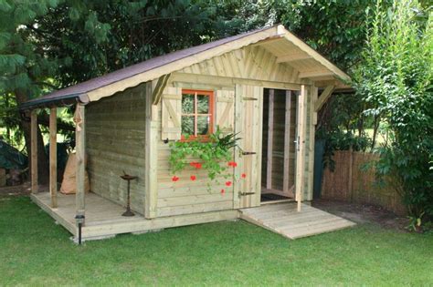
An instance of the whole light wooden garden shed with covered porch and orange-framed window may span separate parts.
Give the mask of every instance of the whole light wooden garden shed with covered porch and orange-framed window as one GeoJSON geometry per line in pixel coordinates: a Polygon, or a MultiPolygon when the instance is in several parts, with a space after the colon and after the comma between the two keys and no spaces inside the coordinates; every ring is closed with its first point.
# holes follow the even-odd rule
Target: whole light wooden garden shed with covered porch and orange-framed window
{"type": "MultiPolygon", "coordinates": [[[[49,108],[51,120],[50,186],[38,190],[37,161],[32,160],[32,200],[75,237],[76,223],[82,222],[86,240],[239,217],[257,223],[262,221],[246,214],[257,213],[252,208],[260,206],[286,215],[294,210],[293,216],[302,218],[302,210],[314,210],[305,203],[312,200],[317,111],[349,80],[283,26],[272,26],[158,56],[30,100],[21,108],[31,111],[31,159],[37,157],[37,108],[49,108]],[[185,114],[186,96],[203,98],[206,111],[185,114]],[[64,105],[76,105],[75,196],[58,193],[56,182],[56,111],[64,105]],[[238,163],[233,177],[248,177],[228,188],[212,182],[210,190],[206,178],[173,181],[168,143],[181,139],[185,120],[195,120],[195,135],[216,126],[239,133],[244,152],[233,152],[238,163]],[[85,169],[90,193],[84,191],[85,169]],[[134,217],[121,217],[127,203],[123,171],[138,177],[131,182],[134,217]],[[296,202],[268,204],[281,201],[296,202]]],[[[327,219],[339,223],[333,229],[351,225],[327,219]]]]}

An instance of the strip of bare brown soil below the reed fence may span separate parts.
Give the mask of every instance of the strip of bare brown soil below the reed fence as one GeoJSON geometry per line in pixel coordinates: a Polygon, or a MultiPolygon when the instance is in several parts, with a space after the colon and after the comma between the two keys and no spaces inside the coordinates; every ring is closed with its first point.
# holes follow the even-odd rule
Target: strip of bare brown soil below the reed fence
{"type": "Polygon", "coordinates": [[[408,220],[381,207],[336,200],[313,200],[312,206],[356,223],[375,222],[382,227],[407,231],[408,220]]]}

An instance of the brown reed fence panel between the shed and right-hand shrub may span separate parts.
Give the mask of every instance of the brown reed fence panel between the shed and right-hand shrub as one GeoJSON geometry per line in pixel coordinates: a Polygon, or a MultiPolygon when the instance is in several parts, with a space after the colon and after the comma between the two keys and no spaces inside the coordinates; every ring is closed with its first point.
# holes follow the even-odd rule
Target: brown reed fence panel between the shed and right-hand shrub
{"type": "Polygon", "coordinates": [[[399,215],[406,214],[396,190],[389,185],[378,185],[374,169],[363,169],[366,163],[377,159],[371,153],[336,151],[334,171],[323,170],[322,199],[373,204],[399,215]]]}

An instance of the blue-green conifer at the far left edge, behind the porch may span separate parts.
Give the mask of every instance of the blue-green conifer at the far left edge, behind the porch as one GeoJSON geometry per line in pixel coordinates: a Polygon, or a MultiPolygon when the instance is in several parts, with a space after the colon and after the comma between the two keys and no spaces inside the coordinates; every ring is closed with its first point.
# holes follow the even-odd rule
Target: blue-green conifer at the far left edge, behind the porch
{"type": "MultiPolygon", "coordinates": [[[[46,15],[48,9],[58,5],[56,0],[42,1],[0,1],[0,92],[8,97],[8,115],[20,118],[18,123],[26,138],[27,154],[30,154],[29,115],[18,116],[17,110],[7,108],[24,103],[40,94],[46,75],[51,74],[55,61],[51,61],[37,46],[37,40],[29,36],[26,24],[38,16],[46,15]],[[14,103],[12,103],[14,102],[14,103]]],[[[12,125],[12,123],[9,123],[12,125]]],[[[48,182],[48,160],[40,129],[37,130],[39,179],[48,182]]]]}

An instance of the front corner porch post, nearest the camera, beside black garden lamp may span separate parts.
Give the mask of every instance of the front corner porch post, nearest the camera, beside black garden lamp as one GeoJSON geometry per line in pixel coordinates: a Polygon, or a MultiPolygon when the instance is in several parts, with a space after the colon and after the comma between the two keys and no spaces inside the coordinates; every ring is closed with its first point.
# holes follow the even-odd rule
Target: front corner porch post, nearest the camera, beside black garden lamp
{"type": "Polygon", "coordinates": [[[84,201],[84,178],[85,178],[85,158],[86,158],[86,138],[85,138],[85,109],[84,105],[77,104],[75,110],[75,153],[76,153],[76,220],[77,223],[84,221],[85,201],[84,201]]]}

